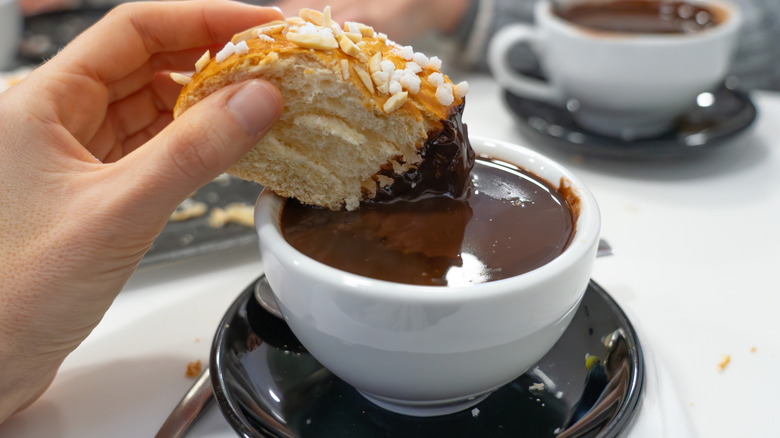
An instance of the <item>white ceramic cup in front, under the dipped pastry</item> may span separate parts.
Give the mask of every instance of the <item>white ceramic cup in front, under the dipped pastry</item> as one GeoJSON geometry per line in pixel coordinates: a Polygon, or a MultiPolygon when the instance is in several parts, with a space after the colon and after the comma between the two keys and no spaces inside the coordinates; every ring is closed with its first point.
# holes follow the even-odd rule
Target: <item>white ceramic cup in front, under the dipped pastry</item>
{"type": "MultiPolygon", "coordinates": [[[[306,349],[366,398],[416,416],[468,408],[514,380],[568,326],[590,279],[598,206],[571,172],[505,142],[472,138],[478,154],[513,163],[580,200],[575,235],[550,263],[472,286],[380,281],[317,262],[280,230],[284,199],[264,190],[255,206],[260,255],[274,298],[306,349]]],[[[533,232],[533,230],[529,230],[533,232]]]]}

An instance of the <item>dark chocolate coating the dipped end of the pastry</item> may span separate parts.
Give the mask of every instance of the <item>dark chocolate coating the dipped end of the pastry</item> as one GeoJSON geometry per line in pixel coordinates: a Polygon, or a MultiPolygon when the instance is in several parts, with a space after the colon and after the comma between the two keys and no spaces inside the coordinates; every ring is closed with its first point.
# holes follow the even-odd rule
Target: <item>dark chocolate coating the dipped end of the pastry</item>
{"type": "Polygon", "coordinates": [[[460,198],[466,193],[469,173],[474,167],[474,150],[462,121],[464,104],[450,111],[441,130],[429,133],[417,168],[402,175],[392,169],[380,172],[392,178],[393,183],[378,187],[371,202],[414,200],[429,195],[460,198]]]}

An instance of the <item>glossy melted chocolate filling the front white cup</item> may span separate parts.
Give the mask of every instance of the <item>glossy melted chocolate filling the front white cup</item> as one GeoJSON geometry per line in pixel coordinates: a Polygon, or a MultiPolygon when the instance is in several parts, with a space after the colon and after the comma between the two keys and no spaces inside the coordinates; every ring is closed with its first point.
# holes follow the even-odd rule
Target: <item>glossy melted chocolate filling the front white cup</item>
{"type": "Polygon", "coordinates": [[[421,285],[500,280],[563,252],[574,232],[572,211],[577,211],[567,203],[572,198],[565,185],[561,193],[515,166],[487,158],[472,166],[459,197],[364,203],[354,211],[288,199],[282,232],[292,246],[327,265],[421,285]]]}

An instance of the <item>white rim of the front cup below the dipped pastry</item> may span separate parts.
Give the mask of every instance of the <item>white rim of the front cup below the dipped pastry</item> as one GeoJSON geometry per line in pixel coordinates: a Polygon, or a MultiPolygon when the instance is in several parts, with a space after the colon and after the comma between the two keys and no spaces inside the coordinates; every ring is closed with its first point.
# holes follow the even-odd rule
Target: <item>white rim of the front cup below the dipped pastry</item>
{"type": "MultiPolygon", "coordinates": [[[[365,277],[328,266],[304,255],[290,245],[284,239],[279,224],[284,198],[276,195],[268,188],[263,189],[255,204],[255,228],[261,240],[260,244],[272,248],[274,256],[281,263],[296,265],[297,269],[307,272],[317,282],[348,286],[354,294],[367,298],[373,297],[385,301],[397,300],[410,304],[423,302],[462,303],[464,301],[483,300],[509,293],[515,294],[523,289],[530,289],[532,285],[543,283],[560,275],[567,268],[577,264],[582,259],[591,256],[595,257],[595,253],[591,255],[589,252],[595,249],[598,241],[601,216],[595,197],[578,177],[552,159],[526,147],[479,136],[471,136],[469,139],[472,145],[480,144],[480,149],[500,147],[505,151],[503,154],[498,153],[495,156],[488,153],[488,156],[520,167],[526,167],[524,164],[527,165],[528,163],[541,163],[540,168],[544,170],[542,173],[561,175],[571,183],[572,188],[574,188],[575,193],[580,198],[580,214],[577,218],[575,234],[569,246],[558,257],[532,271],[511,278],[471,285],[413,285],[365,277]],[[524,162],[514,162],[507,157],[508,155],[513,155],[515,158],[524,157],[524,162]],[[475,288],[479,289],[478,293],[474,292],[475,288]],[[442,293],[445,290],[446,293],[442,293]]],[[[544,175],[537,172],[537,169],[529,170],[544,178],[544,175]]],[[[553,184],[552,181],[548,180],[548,182],[553,184]]]]}

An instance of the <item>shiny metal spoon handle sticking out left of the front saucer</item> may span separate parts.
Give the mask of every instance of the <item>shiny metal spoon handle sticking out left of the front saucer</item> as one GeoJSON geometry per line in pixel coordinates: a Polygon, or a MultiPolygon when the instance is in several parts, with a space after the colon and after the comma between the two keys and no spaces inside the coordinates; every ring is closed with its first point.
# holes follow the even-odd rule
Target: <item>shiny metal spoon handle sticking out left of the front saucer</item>
{"type": "Polygon", "coordinates": [[[213,399],[211,376],[206,367],[165,420],[155,438],[183,437],[213,399]]]}

